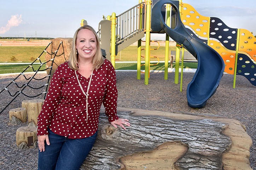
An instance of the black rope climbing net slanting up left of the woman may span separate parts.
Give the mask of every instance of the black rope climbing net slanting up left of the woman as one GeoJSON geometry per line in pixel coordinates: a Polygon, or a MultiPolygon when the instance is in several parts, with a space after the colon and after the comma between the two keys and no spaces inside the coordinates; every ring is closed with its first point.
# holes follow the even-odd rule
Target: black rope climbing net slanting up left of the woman
{"type": "MultiPolygon", "coordinates": [[[[39,57],[37,57],[35,59],[34,62],[32,62],[31,64],[29,64],[29,66],[27,68],[24,69],[24,71],[22,73],[20,73],[16,78],[14,78],[14,80],[12,80],[4,89],[1,90],[0,92],[0,96],[3,95],[5,96],[5,99],[11,99],[11,101],[7,101],[7,104],[4,105],[4,108],[1,110],[0,114],[20,95],[24,95],[26,97],[29,98],[34,98],[40,95],[44,95],[44,99],[46,97],[47,94],[47,89],[48,89],[48,85],[50,82],[50,78],[51,78],[51,73],[52,73],[52,68],[53,68],[53,64],[56,64],[58,66],[58,64],[56,62],[54,62],[54,59],[56,57],[62,56],[64,55],[64,59],[66,60],[65,57],[65,52],[64,52],[64,46],[63,46],[63,42],[60,42],[58,48],[56,51],[53,52],[53,46],[52,46],[52,42],[50,42],[47,47],[45,48],[45,50],[42,51],[42,53],[40,54],[39,57]],[[62,53],[60,53],[60,48],[62,48],[62,53]],[[47,51],[48,50],[48,51],[47,51]],[[50,51],[50,52],[49,52],[50,51]],[[46,62],[42,62],[40,57],[42,56],[42,54],[46,52],[51,56],[51,59],[49,59],[46,62]],[[39,63],[40,62],[40,63],[39,63]],[[47,63],[49,63],[48,65],[51,65],[50,67],[47,67],[47,63]],[[40,64],[40,66],[38,67],[38,64],[40,64]],[[35,67],[36,66],[36,67],[35,67]],[[37,68],[38,67],[38,68],[37,68]],[[26,71],[28,71],[29,69],[32,69],[33,72],[29,72],[31,74],[26,74],[26,71]],[[35,69],[37,68],[37,69],[35,69]],[[39,75],[39,73],[41,71],[46,71],[47,74],[46,76],[42,77],[42,74],[39,75]],[[26,76],[27,75],[27,76],[26,76]],[[30,75],[30,76],[28,76],[30,75]],[[31,76],[32,75],[32,76],[31,76]],[[32,83],[35,82],[36,83],[32,83]],[[36,84],[36,85],[35,85],[36,84]],[[33,90],[34,89],[34,90],[33,90]],[[4,93],[7,92],[7,93],[4,93]],[[8,96],[8,97],[7,97],[8,96]]],[[[42,73],[42,72],[41,72],[42,73]]],[[[5,101],[6,102],[6,101],[5,101]]]]}

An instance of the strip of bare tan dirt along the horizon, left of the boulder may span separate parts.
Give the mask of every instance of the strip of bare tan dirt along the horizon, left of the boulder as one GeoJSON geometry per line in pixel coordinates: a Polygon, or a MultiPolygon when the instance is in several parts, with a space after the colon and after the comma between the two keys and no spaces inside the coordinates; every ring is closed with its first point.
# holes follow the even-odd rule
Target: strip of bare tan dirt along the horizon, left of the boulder
{"type": "Polygon", "coordinates": [[[19,40],[19,39],[2,39],[0,46],[47,46],[51,40],[19,40]]]}

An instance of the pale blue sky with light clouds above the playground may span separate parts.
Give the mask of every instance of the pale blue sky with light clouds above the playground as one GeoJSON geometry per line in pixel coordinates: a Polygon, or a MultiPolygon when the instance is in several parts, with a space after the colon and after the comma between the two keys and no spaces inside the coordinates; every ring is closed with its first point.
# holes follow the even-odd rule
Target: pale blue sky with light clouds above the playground
{"type": "MultiPolygon", "coordinates": [[[[98,31],[98,23],[139,0],[0,0],[0,37],[71,38],[82,19],[98,31]]],[[[206,17],[220,18],[228,27],[256,34],[255,0],[182,0],[206,17]]],[[[161,39],[163,35],[154,35],[161,39]]],[[[151,38],[152,39],[152,38],[151,38]]]]}

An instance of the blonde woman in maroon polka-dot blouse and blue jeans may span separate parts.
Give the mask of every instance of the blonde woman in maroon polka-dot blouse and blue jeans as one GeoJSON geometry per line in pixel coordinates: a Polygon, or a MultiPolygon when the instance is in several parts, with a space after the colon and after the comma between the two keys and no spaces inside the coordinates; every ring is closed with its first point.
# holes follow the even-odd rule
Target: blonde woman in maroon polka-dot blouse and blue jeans
{"type": "Polygon", "coordinates": [[[69,61],[55,71],[37,118],[39,170],[80,168],[96,140],[102,103],[112,126],[130,126],[117,116],[115,69],[86,25],[75,32],[69,61]]]}

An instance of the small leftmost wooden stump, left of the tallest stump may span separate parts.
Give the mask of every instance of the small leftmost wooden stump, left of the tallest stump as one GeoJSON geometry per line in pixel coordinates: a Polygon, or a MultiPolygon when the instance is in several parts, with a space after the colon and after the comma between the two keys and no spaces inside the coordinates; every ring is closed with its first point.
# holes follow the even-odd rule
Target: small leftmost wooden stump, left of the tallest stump
{"type": "Polygon", "coordinates": [[[9,111],[11,124],[22,124],[27,122],[27,110],[23,107],[14,108],[9,111]]]}

